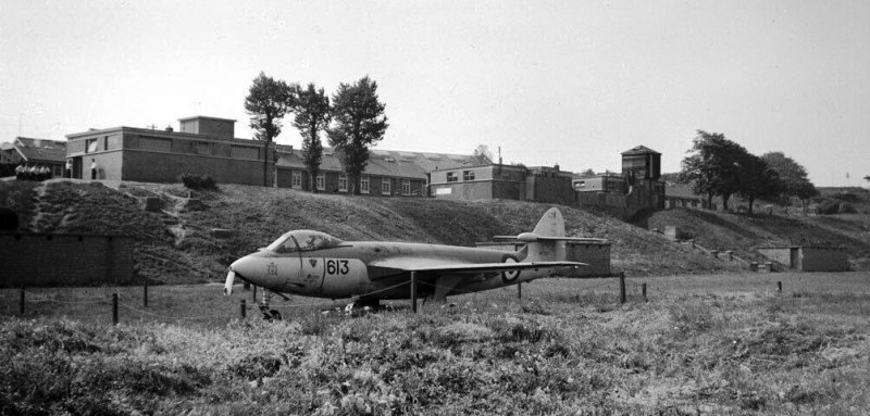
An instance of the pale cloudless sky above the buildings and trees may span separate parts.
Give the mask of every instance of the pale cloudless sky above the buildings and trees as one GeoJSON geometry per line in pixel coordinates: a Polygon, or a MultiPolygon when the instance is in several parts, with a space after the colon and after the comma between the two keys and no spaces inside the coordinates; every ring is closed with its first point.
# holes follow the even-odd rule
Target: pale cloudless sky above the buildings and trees
{"type": "Polygon", "coordinates": [[[251,138],[260,72],[330,94],[368,75],[377,149],[619,172],[643,144],[679,172],[703,129],[867,186],[868,22],[867,0],[0,0],[0,142],[192,115],[251,138]]]}

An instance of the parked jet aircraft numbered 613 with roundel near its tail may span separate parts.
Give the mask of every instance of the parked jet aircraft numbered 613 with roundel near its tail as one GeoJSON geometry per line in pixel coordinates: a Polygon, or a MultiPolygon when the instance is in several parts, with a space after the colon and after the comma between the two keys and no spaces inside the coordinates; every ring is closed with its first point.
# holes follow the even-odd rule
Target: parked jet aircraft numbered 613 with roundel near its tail
{"type": "MultiPolygon", "coordinates": [[[[326,299],[356,298],[358,305],[380,300],[410,299],[412,274],[420,298],[445,301],[447,295],[501,288],[557,275],[585,263],[566,261],[562,213],[552,207],[534,231],[496,236],[514,241],[517,251],[413,242],[343,241],[324,232],[299,229],[281,236],[260,251],[229,266],[224,294],[233,293],[236,277],[272,293],[326,299]]],[[[284,297],[286,299],[286,297],[284,297]]]]}

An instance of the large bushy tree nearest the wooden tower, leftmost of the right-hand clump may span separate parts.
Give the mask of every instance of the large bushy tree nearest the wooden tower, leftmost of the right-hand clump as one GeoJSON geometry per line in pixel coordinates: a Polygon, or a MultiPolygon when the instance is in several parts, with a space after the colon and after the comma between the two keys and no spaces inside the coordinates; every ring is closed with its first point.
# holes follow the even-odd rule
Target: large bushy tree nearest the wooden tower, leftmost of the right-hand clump
{"type": "Polygon", "coordinates": [[[739,190],[739,162],[748,154],[746,149],[721,133],[698,130],[688,152],[692,154],[682,162],[681,181],[692,182],[695,193],[706,194],[707,206],[713,196],[721,196],[722,209],[728,210],[729,199],[739,190]]]}

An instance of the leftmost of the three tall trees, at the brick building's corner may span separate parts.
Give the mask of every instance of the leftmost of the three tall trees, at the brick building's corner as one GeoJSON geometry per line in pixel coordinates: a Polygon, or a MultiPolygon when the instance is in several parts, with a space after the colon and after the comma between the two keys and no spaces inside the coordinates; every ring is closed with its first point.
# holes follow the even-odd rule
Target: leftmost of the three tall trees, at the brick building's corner
{"type": "Polygon", "coordinates": [[[281,119],[293,109],[294,87],[263,72],[248,90],[245,111],[250,115],[253,138],[263,141],[263,186],[269,186],[269,147],[281,134],[281,119]]]}

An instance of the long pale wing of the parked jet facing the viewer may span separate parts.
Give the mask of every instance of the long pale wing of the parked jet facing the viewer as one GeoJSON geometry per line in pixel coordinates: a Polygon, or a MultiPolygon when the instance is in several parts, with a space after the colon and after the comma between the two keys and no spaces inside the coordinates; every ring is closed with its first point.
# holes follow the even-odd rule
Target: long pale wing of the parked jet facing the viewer
{"type": "Polygon", "coordinates": [[[530,262],[530,263],[462,263],[443,259],[390,257],[369,263],[369,267],[393,269],[397,272],[426,272],[433,274],[478,274],[500,273],[556,267],[581,267],[580,262],[530,262]]]}

